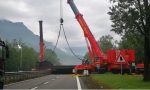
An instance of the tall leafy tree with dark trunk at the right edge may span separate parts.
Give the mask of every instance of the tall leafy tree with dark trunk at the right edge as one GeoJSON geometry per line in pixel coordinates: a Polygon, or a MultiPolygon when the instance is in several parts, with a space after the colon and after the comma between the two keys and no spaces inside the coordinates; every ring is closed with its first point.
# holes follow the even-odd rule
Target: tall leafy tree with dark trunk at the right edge
{"type": "Polygon", "coordinates": [[[150,81],[150,0],[110,0],[112,31],[144,37],[144,81],[150,81]]]}

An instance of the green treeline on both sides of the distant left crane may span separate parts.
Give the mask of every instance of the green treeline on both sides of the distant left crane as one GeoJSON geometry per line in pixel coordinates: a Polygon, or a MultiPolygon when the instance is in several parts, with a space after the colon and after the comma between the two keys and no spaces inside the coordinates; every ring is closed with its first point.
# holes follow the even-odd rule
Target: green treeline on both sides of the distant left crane
{"type": "MultiPolygon", "coordinates": [[[[10,57],[6,60],[5,66],[7,72],[19,70],[29,71],[32,68],[36,68],[36,64],[39,61],[38,52],[36,52],[33,48],[26,46],[21,41],[19,42],[19,45],[22,47],[20,49],[18,48],[18,42],[16,42],[16,40],[7,44],[10,53],[10,57]]],[[[48,49],[45,51],[45,59],[52,62],[53,64],[60,64],[57,55],[52,53],[52,50],[48,49]]]]}

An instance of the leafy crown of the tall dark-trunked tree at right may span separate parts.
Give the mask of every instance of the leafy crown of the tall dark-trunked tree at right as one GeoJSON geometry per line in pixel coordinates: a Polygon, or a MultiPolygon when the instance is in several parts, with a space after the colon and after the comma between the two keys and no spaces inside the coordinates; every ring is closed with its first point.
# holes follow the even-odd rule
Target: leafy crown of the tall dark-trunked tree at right
{"type": "MultiPolygon", "coordinates": [[[[111,0],[114,1],[112,7],[110,7],[109,15],[111,15],[112,31],[118,34],[125,34],[126,32],[141,32],[143,34],[143,21],[145,20],[144,7],[138,6],[139,0],[111,0]],[[141,15],[142,14],[142,15],[141,15]]],[[[140,3],[143,3],[140,1],[140,3]]]]}

